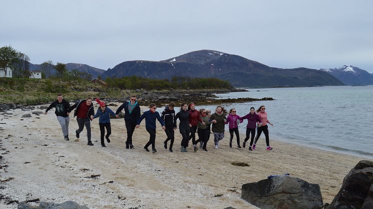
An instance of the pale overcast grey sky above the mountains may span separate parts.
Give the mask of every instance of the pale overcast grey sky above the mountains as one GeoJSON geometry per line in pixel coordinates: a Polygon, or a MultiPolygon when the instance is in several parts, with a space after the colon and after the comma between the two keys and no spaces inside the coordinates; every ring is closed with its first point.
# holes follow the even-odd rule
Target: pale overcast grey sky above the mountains
{"type": "Polygon", "coordinates": [[[1,0],[0,47],[106,70],[211,49],[279,68],[373,73],[372,0],[1,0]]]}

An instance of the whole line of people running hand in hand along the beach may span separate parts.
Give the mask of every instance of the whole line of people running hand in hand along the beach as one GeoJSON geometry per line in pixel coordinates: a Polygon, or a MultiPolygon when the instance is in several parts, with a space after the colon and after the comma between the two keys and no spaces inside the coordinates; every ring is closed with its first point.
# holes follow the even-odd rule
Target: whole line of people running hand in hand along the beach
{"type": "Polygon", "coordinates": [[[167,138],[163,142],[163,147],[170,152],[173,152],[172,147],[174,143],[174,131],[177,129],[176,121],[179,120],[179,132],[181,134],[181,152],[187,152],[187,147],[191,139],[191,144],[193,146],[193,151],[198,150],[197,144],[199,143],[199,148],[207,152],[206,145],[210,138],[210,133],[212,131],[213,141],[215,149],[219,148],[219,141],[224,138],[224,127],[228,124],[229,127],[229,147],[232,147],[232,140],[234,135],[236,136],[237,148],[241,148],[239,142],[239,131],[238,124],[242,123],[243,120],[247,120],[246,125],[246,138],[243,141],[242,147],[246,147],[246,142],[250,138],[251,140],[248,149],[250,151],[255,150],[255,144],[259,139],[261,133],[265,135],[266,150],[272,150],[269,146],[269,134],[268,125],[273,126],[267,118],[267,113],[265,112],[265,106],[261,105],[256,111],[254,107],[250,108],[250,112],[243,117],[236,114],[236,110],[230,109],[227,112],[222,106],[217,106],[214,113],[208,109],[201,108],[199,111],[195,109],[195,104],[181,104],[180,110],[176,113],[174,108],[175,104],[173,102],[165,106],[161,114],[156,111],[156,105],[150,104],[149,110],[143,112],[141,115],[140,106],[137,103],[136,95],[130,96],[130,100],[124,102],[118,107],[114,113],[110,108],[106,107],[105,102],[100,101],[98,98],[95,100],[99,105],[98,110],[94,114],[94,108],[92,104],[92,98],[87,97],[85,100],[76,102],[74,105],[70,106],[69,102],[63,99],[61,94],[57,94],[57,100],[50,104],[50,106],[45,110],[44,114],[51,108],[55,108],[55,114],[57,120],[61,125],[62,133],[65,140],[69,140],[68,137],[68,124],[69,124],[69,114],[75,109],[73,116],[76,116],[76,121],[78,124],[78,129],[75,131],[76,138],[79,138],[79,134],[83,131],[85,126],[87,132],[87,145],[93,146],[91,141],[91,130],[90,122],[94,118],[98,119],[98,125],[100,129],[100,141],[101,146],[105,147],[104,139],[107,143],[110,143],[109,136],[111,134],[110,126],[110,115],[119,118],[119,113],[124,109],[124,123],[127,132],[127,139],[125,141],[126,149],[134,149],[132,144],[132,136],[134,130],[140,126],[140,123],[145,119],[145,129],[149,133],[149,141],[143,147],[145,151],[150,152],[148,147],[151,145],[151,151],[156,152],[155,149],[155,137],[156,137],[156,120],[160,123],[162,129],[164,130],[167,138]],[[105,135],[106,129],[106,135],[105,135]],[[255,132],[257,134],[255,137],[255,132]],[[198,139],[196,140],[196,133],[198,139]],[[169,146],[168,146],[168,141],[169,146]]]}

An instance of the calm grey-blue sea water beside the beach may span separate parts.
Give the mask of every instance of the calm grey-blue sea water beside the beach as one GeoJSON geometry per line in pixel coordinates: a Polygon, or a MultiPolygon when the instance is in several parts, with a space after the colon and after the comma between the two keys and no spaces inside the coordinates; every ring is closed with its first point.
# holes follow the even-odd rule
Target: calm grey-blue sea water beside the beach
{"type": "MultiPolygon", "coordinates": [[[[268,120],[273,123],[273,127],[268,125],[270,139],[373,158],[373,86],[247,90],[217,96],[274,98],[224,104],[227,109],[236,108],[239,116],[247,114],[251,106],[257,109],[265,105],[268,120]]],[[[203,107],[214,110],[216,106],[203,107]]],[[[246,124],[239,125],[241,133],[245,133],[246,124]]]]}

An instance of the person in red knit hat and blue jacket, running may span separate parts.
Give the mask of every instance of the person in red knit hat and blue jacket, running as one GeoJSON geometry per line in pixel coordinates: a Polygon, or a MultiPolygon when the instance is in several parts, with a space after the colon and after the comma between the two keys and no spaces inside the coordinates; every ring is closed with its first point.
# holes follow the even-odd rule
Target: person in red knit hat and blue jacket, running
{"type": "Polygon", "coordinates": [[[106,107],[105,102],[100,101],[98,98],[96,98],[96,102],[99,104],[99,108],[94,115],[93,118],[99,118],[98,119],[98,126],[99,126],[99,132],[101,137],[101,146],[105,146],[105,142],[103,140],[103,137],[105,135],[105,128],[106,128],[106,141],[107,143],[110,143],[109,136],[111,134],[111,126],[110,126],[110,115],[115,116],[115,113],[108,107],[106,107]]]}

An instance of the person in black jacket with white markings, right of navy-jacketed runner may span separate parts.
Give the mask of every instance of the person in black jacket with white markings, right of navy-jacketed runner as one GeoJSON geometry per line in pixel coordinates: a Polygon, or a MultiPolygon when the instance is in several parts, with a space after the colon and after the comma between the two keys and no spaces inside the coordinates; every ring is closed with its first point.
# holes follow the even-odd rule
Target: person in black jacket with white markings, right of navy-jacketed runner
{"type": "Polygon", "coordinates": [[[163,142],[165,149],[167,149],[167,142],[169,140],[171,140],[171,142],[169,144],[169,149],[168,149],[169,152],[172,152],[172,145],[173,145],[173,141],[175,139],[174,130],[176,129],[176,121],[175,121],[175,110],[173,110],[174,107],[175,107],[175,103],[173,103],[173,102],[169,103],[167,106],[165,106],[165,108],[164,108],[164,110],[161,114],[161,118],[162,118],[162,120],[164,122],[164,125],[166,127],[164,132],[167,135],[166,140],[163,142]]]}

